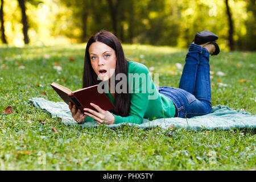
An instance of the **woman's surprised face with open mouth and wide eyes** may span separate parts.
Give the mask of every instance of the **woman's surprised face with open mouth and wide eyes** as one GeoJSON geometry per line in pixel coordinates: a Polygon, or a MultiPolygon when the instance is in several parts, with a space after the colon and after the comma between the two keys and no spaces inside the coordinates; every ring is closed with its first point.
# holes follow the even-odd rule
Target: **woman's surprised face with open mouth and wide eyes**
{"type": "Polygon", "coordinates": [[[114,74],[117,58],[115,50],[102,42],[94,42],[89,47],[90,63],[96,75],[109,80],[114,74]]]}

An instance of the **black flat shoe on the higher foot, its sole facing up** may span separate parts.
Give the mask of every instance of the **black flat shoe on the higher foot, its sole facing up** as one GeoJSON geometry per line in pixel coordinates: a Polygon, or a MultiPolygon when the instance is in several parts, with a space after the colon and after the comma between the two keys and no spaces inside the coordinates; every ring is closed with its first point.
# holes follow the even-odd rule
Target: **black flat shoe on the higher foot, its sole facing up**
{"type": "Polygon", "coordinates": [[[218,39],[218,36],[208,30],[197,32],[193,42],[197,45],[205,44],[207,42],[213,42],[218,39]]]}

